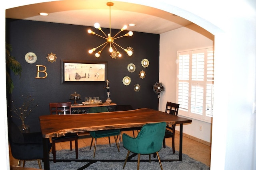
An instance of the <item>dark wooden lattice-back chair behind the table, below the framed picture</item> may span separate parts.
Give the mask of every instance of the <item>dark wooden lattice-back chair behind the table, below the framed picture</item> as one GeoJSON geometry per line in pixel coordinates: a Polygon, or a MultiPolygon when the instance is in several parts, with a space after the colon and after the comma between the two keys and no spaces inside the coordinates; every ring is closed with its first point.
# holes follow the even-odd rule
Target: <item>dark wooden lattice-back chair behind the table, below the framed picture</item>
{"type": "MultiPolygon", "coordinates": [[[[51,115],[71,114],[71,102],[49,103],[51,115]]],[[[78,135],[76,133],[65,134],[62,137],[52,137],[53,162],[56,162],[55,143],[70,141],[70,150],[72,150],[72,141],[75,141],[76,159],[78,159],[78,135]]]]}

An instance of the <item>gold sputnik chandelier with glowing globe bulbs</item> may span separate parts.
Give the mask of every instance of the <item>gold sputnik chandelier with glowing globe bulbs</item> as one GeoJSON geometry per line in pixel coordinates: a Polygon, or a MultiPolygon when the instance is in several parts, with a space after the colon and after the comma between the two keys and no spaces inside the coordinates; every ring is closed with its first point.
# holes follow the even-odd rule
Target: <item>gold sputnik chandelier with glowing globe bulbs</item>
{"type": "Polygon", "coordinates": [[[109,47],[109,52],[110,52],[110,56],[112,57],[112,59],[113,59],[113,58],[116,59],[117,56],[118,56],[118,57],[121,57],[121,56],[122,56],[121,53],[116,49],[115,45],[118,46],[118,47],[120,47],[121,49],[123,49],[123,50],[127,53],[128,56],[131,56],[131,55],[132,55],[132,52],[133,52],[132,47],[127,47],[126,49],[124,49],[123,47],[121,47],[120,45],[118,45],[117,43],[114,42],[115,39],[118,39],[118,38],[120,38],[120,37],[127,37],[127,36],[132,36],[132,35],[133,35],[133,32],[132,32],[132,31],[129,31],[128,33],[126,33],[126,34],[124,34],[124,35],[122,35],[122,36],[120,36],[120,37],[116,37],[120,32],[124,31],[124,30],[127,28],[126,25],[124,25],[124,27],[122,27],[122,29],[120,29],[120,31],[119,31],[116,35],[114,35],[114,37],[111,36],[111,13],[110,13],[111,10],[110,10],[110,8],[111,8],[111,6],[113,6],[113,5],[114,5],[114,3],[112,3],[112,2],[107,2],[107,6],[109,6],[109,33],[108,33],[108,35],[106,35],[106,34],[102,31],[102,29],[101,29],[99,23],[95,23],[95,24],[94,24],[94,27],[95,27],[96,29],[100,30],[100,31],[104,34],[105,37],[96,34],[94,31],[92,31],[92,30],[90,30],[90,29],[88,30],[88,33],[93,34],[93,35],[97,35],[97,36],[99,36],[99,37],[102,37],[102,38],[106,39],[106,42],[103,43],[102,45],[99,45],[98,47],[89,50],[89,53],[92,54],[96,49],[98,49],[99,47],[102,47],[102,46],[103,46],[102,49],[101,49],[100,51],[98,51],[98,53],[95,53],[95,57],[97,57],[97,58],[100,57],[100,53],[102,52],[102,50],[103,50],[103,49],[106,47],[106,45],[108,45],[108,44],[110,45],[110,47],[109,47]]]}

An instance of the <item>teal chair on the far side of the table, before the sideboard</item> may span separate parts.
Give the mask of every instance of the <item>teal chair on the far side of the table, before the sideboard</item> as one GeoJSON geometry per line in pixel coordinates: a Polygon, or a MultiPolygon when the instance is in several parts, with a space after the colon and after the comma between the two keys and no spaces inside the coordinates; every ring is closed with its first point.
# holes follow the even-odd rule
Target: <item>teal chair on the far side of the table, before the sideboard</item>
{"type": "MultiPolygon", "coordinates": [[[[100,112],[108,112],[108,108],[105,107],[105,106],[90,107],[90,109],[88,109],[87,113],[100,113],[100,112]]],[[[117,143],[117,137],[118,137],[118,135],[120,135],[120,129],[92,131],[92,132],[90,132],[90,135],[92,136],[92,142],[93,142],[93,139],[95,139],[93,157],[95,157],[97,138],[101,138],[101,137],[108,137],[109,146],[111,146],[110,145],[110,136],[114,136],[118,152],[120,152],[119,145],[117,143]]],[[[92,148],[92,142],[91,142],[91,145],[90,145],[90,150],[92,148]]]]}

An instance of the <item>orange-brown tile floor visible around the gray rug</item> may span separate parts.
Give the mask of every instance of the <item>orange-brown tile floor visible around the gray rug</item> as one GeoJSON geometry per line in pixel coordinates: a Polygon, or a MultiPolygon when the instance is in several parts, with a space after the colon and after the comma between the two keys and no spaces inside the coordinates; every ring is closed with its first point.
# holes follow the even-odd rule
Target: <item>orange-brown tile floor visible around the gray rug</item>
{"type": "MultiPolygon", "coordinates": [[[[127,133],[128,135],[132,136],[132,131],[125,131],[122,133],[127,133]]],[[[137,132],[134,132],[135,135],[137,135],[137,132]]],[[[175,135],[175,149],[179,149],[179,134],[175,135]]],[[[114,138],[110,137],[111,143],[114,144],[114,138]]],[[[78,147],[86,147],[90,146],[91,143],[91,137],[90,136],[80,136],[78,139],[78,147]]],[[[108,144],[108,138],[99,138],[97,139],[97,145],[105,145],[108,144]]],[[[72,143],[73,149],[75,144],[72,143]]],[[[166,146],[171,147],[172,146],[172,139],[168,138],[166,139],[166,146]]],[[[56,143],[56,150],[60,149],[69,149],[70,144],[69,142],[62,142],[62,143],[56,143]]],[[[199,143],[197,141],[194,141],[192,139],[189,139],[187,137],[183,137],[183,148],[182,152],[184,154],[189,155],[191,158],[194,158],[207,166],[210,166],[210,159],[211,159],[211,147],[204,145],[202,143],[199,143]]],[[[10,152],[10,165],[17,165],[18,160],[12,157],[10,152]]]]}

